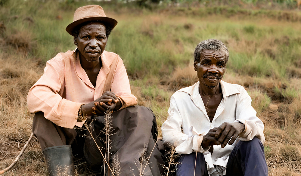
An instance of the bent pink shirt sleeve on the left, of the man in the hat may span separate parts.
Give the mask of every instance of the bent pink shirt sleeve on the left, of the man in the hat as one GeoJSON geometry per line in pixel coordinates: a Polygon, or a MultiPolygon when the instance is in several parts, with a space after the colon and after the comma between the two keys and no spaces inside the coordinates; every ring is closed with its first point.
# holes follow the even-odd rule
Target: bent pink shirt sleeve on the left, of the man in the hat
{"type": "Polygon", "coordinates": [[[65,70],[61,64],[56,60],[47,61],[43,76],[29,90],[27,104],[31,113],[42,111],[54,124],[73,128],[82,103],[66,100],[59,94],[65,87],[65,70]]]}

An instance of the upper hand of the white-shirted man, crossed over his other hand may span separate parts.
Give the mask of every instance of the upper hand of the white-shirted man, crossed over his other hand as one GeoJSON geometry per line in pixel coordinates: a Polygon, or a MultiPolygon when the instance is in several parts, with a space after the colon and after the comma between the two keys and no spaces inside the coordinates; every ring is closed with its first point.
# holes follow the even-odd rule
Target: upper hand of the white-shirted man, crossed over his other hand
{"type": "Polygon", "coordinates": [[[244,124],[235,122],[235,123],[228,123],[224,122],[222,125],[217,128],[215,137],[217,140],[217,145],[222,144],[222,148],[224,148],[227,143],[229,142],[229,145],[232,145],[238,135],[244,131],[244,124]],[[231,138],[232,137],[232,138],[231,138]],[[231,140],[230,140],[231,139],[231,140]],[[230,140],[230,141],[229,141],[230,140]]]}

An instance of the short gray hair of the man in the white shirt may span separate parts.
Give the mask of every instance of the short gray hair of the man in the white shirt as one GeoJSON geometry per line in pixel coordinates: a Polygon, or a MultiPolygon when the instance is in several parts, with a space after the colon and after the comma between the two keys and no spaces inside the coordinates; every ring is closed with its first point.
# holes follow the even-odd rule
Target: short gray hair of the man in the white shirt
{"type": "Polygon", "coordinates": [[[225,63],[229,60],[228,48],[220,40],[208,39],[200,42],[194,50],[194,61],[200,61],[201,54],[204,50],[221,51],[225,54],[225,63]]]}

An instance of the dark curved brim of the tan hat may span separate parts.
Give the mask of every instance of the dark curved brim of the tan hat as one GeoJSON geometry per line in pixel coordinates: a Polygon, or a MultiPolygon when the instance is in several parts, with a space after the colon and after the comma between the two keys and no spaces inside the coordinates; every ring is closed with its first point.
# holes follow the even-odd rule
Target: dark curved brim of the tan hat
{"type": "Polygon", "coordinates": [[[100,23],[106,23],[106,25],[109,25],[111,27],[111,29],[113,29],[116,25],[117,25],[117,21],[114,20],[113,18],[109,18],[109,17],[88,17],[88,18],[83,18],[83,19],[80,19],[80,20],[76,20],[76,21],[73,21],[73,23],[69,24],[67,27],[66,27],[66,31],[71,35],[73,36],[73,30],[76,26],[82,24],[82,23],[85,23],[85,22],[88,22],[88,21],[97,21],[97,22],[100,22],[100,23]]]}

